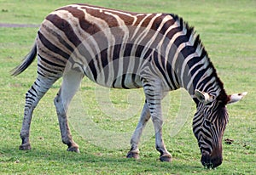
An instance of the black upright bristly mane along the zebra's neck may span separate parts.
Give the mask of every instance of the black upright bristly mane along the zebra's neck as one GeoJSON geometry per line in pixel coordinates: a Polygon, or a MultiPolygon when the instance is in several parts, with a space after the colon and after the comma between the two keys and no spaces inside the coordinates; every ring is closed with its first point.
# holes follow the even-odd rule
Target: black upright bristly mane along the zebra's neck
{"type": "Polygon", "coordinates": [[[201,47],[200,58],[203,59],[203,58],[207,57],[207,59],[206,59],[206,62],[208,63],[207,67],[212,69],[211,76],[214,76],[216,78],[216,82],[217,82],[219,88],[221,89],[221,92],[218,95],[218,100],[222,101],[224,104],[227,104],[227,102],[229,101],[230,98],[224,90],[224,83],[218,77],[217,70],[215,69],[214,65],[212,64],[209,54],[207,53],[207,50],[206,50],[205,46],[203,45],[203,42],[201,41],[200,35],[198,33],[196,33],[195,27],[189,26],[189,23],[184,21],[183,18],[179,17],[177,14],[171,14],[171,15],[174,20],[179,22],[181,27],[185,27],[187,29],[188,37],[190,37],[190,35],[195,36],[194,49],[196,50],[196,48],[198,46],[201,47]]]}

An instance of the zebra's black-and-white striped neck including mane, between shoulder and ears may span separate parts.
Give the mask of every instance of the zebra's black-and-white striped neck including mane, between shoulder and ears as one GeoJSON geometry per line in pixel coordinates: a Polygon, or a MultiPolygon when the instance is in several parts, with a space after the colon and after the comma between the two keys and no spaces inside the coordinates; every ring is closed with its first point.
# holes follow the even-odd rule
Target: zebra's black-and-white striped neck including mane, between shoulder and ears
{"type": "MultiPolygon", "coordinates": [[[[174,41],[172,47],[176,47],[176,52],[168,54],[168,62],[172,65],[173,71],[172,79],[177,79],[179,86],[185,88],[192,98],[195,95],[195,89],[216,97],[219,94],[225,96],[223,82],[218,78],[200,36],[196,35],[194,28],[189,27],[183,19],[175,15],[173,18],[177,19],[178,30],[170,38],[174,41]]],[[[173,50],[170,49],[170,52],[173,50]]]]}

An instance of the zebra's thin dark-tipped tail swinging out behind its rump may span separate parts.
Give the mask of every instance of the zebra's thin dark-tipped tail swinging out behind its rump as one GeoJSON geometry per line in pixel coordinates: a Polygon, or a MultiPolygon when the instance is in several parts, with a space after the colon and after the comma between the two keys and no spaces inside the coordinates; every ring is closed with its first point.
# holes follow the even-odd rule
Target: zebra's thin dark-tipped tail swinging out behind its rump
{"type": "Polygon", "coordinates": [[[33,60],[36,58],[36,55],[37,55],[37,43],[35,42],[30,53],[26,55],[25,59],[23,59],[20,65],[18,65],[17,67],[15,67],[15,69],[11,71],[11,75],[18,76],[21,72],[25,71],[26,68],[32,64],[33,60]]]}

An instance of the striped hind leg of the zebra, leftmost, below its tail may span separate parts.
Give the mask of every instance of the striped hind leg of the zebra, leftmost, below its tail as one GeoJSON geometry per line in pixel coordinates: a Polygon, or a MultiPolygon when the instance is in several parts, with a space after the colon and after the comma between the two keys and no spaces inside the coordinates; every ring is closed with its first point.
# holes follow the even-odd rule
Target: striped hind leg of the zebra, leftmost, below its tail
{"type": "Polygon", "coordinates": [[[31,150],[29,135],[33,110],[36,108],[39,100],[42,99],[44,94],[57,79],[58,78],[49,79],[44,76],[38,76],[36,81],[33,83],[32,88],[27,91],[24,118],[20,130],[20,138],[22,140],[20,150],[31,150]]]}

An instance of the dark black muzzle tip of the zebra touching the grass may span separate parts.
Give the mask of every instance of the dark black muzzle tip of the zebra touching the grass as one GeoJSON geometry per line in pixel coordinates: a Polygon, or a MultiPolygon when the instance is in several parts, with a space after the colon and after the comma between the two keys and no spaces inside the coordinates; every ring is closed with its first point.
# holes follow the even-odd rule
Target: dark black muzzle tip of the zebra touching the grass
{"type": "Polygon", "coordinates": [[[222,163],[222,155],[219,156],[211,156],[208,154],[201,155],[201,164],[206,168],[215,168],[221,165],[222,163]]]}

